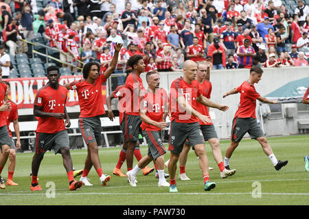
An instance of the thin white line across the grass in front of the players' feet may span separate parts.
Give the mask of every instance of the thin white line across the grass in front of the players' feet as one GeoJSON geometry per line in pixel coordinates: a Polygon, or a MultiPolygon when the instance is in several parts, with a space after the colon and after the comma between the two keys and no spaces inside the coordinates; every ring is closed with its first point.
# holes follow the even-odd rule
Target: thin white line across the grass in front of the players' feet
{"type": "MultiPolygon", "coordinates": [[[[55,196],[65,196],[65,195],[135,195],[135,196],[148,196],[148,195],[251,195],[251,192],[161,192],[161,193],[115,193],[115,192],[89,192],[89,193],[56,193],[55,196]]],[[[292,196],[309,196],[309,193],[282,193],[282,192],[261,192],[261,195],[292,195],[292,196]]],[[[11,194],[11,193],[5,193],[0,194],[1,195],[10,195],[10,196],[38,196],[38,195],[46,195],[45,193],[29,193],[29,194],[11,194]]]]}

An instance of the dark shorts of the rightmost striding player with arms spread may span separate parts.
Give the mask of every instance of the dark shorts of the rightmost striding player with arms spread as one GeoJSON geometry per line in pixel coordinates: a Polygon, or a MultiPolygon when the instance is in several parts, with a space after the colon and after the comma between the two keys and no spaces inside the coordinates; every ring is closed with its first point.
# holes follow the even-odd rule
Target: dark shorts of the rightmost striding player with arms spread
{"type": "Polygon", "coordinates": [[[234,118],[231,129],[231,140],[233,142],[240,142],[247,132],[252,139],[264,137],[264,132],[260,125],[258,125],[256,118],[234,118]]]}

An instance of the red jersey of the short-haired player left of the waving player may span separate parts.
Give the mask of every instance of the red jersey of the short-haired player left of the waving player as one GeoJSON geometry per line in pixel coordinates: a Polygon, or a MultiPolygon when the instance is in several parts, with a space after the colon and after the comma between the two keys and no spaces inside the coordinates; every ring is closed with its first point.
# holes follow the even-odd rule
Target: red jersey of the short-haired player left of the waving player
{"type": "MultiPolygon", "coordinates": [[[[64,86],[58,87],[57,90],[46,86],[38,90],[36,99],[33,105],[42,107],[43,112],[47,113],[65,113],[65,103],[67,103],[67,89],[64,86]]],[[[38,126],[36,132],[40,133],[57,133],[65,130],[65,122],[63,119],[54,117],[36,117],[38,119],[38,126]]]]}

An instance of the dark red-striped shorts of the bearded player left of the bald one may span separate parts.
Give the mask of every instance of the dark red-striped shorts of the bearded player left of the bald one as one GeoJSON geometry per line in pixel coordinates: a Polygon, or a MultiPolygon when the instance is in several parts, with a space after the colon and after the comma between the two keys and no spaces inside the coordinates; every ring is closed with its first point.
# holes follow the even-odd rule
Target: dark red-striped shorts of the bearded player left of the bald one
{"type": "Polygon", "coordinates": [[[148,155],[156,160],[166,153],[159,131],[144,131],[148,143],[148,155]]]}

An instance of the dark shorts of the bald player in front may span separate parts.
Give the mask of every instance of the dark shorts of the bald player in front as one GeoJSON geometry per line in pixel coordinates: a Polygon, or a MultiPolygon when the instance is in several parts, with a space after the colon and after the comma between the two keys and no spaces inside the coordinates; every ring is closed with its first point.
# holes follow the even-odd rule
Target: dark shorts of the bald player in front
{"type": "Polygon", "coordinates": [[[168,151],[179,154],[183,151],[185,140],[189,140],[191,146],[205,144],[203,133],[198,123],[176,123],[172,121],[170,125],[170,144],[168,151]]]}

